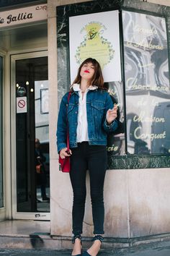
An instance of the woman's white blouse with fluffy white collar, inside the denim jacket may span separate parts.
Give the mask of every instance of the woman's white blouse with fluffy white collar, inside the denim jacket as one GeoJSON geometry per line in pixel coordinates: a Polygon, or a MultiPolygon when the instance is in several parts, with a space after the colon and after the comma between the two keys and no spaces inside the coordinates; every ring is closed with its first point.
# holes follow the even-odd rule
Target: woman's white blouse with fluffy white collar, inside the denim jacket
{"type": "Polygon", "coordinates": [[[86,119],[86,94],[89,90],[96,90],[96,85],[90,85],[86,89],[84,95],[81,93],[80,85],[74,84],[73,90],[79,92],[79,113],[78,113],[78,124],[77,124],[77,142],[89,141],[88,137],[88,124],[86,119]]]}

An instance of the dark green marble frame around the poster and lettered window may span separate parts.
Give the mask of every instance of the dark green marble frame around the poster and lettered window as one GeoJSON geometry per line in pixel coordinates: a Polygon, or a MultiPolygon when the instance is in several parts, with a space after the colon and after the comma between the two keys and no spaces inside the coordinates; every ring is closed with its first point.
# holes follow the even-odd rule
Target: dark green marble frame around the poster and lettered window
{"type": "MultiPolygon", "coordinates": [[[[74,15],[106,12],[114,9],[142,12],[166,18],[170,49],[170,7],[138,0],[98,0],[57,7],[58,39],[58,96],[61,98],[70,85],[68,18],[74,15]]],[[[121,21],[120,21],[121,23],[121,21]]],[[[123,71],[123,64],[122,64],[123,71]]],[[[170,155],[112,155],[108,158],[109,169],[169,168],[170,155]]]]}

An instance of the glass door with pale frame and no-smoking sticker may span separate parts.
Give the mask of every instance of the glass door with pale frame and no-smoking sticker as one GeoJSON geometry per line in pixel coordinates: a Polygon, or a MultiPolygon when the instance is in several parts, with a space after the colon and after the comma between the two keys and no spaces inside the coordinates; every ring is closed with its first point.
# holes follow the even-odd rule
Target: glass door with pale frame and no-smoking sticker
{"type": "Polygon", "coordinates": [[[12,56],[13,218],[50,218],[47,52],[12,56]],[[14,129],[13,129],[14,128],[14,129]]]}

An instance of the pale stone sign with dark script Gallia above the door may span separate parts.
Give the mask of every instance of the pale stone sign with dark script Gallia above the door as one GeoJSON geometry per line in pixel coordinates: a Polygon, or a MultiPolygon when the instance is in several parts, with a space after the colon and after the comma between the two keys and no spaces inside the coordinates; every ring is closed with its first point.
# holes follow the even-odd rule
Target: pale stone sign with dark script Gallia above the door
{"type": "Polygon", "coordinates": [[[40,20],[47,20],[47,4],[0,12],[0,30],[2,27],[10,27],[40,20]]]}

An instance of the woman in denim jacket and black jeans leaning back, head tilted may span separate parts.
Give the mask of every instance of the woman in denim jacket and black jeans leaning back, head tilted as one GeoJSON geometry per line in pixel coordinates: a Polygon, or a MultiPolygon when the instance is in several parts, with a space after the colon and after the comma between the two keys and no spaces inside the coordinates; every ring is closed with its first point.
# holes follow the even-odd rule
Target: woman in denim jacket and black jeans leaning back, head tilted
{"type": "Polygon", "coordinates": [[[86,59],[71,85],[71,98],[63,96],[58,114],[57,145],[61,158],[71,157],[73,187],[73,252],[81,255],[81,234],[86,200],[86,170],[89,170],[94,243],[83,255],[96,256],[104,234],[104,176],[107,169],[107,132],[117,129],[117,106],[104,88],[99,62],[86,59]],[[66,148],[66,105],[70,152],[66,148]]]}

